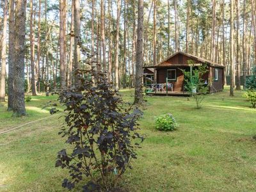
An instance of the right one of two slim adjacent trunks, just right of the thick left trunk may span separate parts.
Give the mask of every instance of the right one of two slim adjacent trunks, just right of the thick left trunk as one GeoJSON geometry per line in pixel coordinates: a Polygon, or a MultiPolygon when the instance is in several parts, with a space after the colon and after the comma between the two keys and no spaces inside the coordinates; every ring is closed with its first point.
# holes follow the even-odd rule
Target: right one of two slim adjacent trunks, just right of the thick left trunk
{"type": "Polygon", "coordinates": [[[38,0],[38,37],[37,37],[37,57],[36,57],[36,85],[40,92],[40,56],[41,56],[41,0],[38,0]]]}

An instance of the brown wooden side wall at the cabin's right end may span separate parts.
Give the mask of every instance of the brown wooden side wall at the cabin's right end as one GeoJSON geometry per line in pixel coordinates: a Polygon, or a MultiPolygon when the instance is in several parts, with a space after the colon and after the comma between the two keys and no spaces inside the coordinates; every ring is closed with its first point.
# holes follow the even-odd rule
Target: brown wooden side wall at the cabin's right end
{"type": "MultiPolygon", "coordinates": [[[[217,68],[217,67],[216,67],[217,68]]],[[[218,81],[214,81],[215,67],[210,67],[209,78],[212,79],[212,86],[210,92],[220,92],[223,90],[223,68],[218,68],[218,81]]]]}

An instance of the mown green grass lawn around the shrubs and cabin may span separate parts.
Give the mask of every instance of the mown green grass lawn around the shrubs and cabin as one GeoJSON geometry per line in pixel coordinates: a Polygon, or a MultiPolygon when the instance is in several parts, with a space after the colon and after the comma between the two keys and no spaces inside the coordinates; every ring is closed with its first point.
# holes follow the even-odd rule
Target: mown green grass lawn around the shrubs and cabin
{"type": "MultiPolygon", "coordinates": [[[[122,90],[131,100],[132,90],[122,90]]],[[[141,133],[147,136],[133,169],[124,176],[130,191],[255,191],[256,110],[236,92],[207,95],[202,109],[187,97],[145,97],[141,133]],[[172,113],[179,128],[157,131],[156,117],[172,113]]],[[[28,116],[13,118],[0,106],[0,132],[49,116],[42,109],[55,96],[32,97],[28,116]]],[[[61,118],[52,117],[0,135],[0,191],[64,191],[66,170],[54,168],[65,148],[61,118]]]]}

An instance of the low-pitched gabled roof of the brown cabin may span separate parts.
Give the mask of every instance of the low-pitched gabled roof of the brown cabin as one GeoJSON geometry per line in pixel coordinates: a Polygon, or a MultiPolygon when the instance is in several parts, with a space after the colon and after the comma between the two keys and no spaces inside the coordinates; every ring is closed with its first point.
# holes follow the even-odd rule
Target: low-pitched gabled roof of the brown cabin
{"type": "MultiPolygon", "coordinates": [[[[171,56],[165,58],[163,61],[160,61],[159,63],[157,63],[157,65],[153,65],[153,66],[148,66],[148,67],[144,67],[144,68],[162,68],[162,67],[180,67],[180,66],[191,66],[188,63],[180,63],[180,64],[172,64],[172,63],[168,63],[167,61],[170,60],[170,58],[173,58],[174,56],[176,56],[177,54],[183,54],[184,56],[188,56],[191,59],[200,61],[202,63],[206,63],[207,65],[211,66],[211,67],[220,67],[220,68],[225,68],[223,65],[220,65],[218,63],[215,63],[213,61],[209,61],[209,60],[205,60],[204,58],[200,58],[198,56],[194,56],[192,54],[188,54],[185,52],[175,52],[174,54],[172,54],[171,56]]],[[[195,63],[194,65],[199,65],[199,63],[195,63]]]]}

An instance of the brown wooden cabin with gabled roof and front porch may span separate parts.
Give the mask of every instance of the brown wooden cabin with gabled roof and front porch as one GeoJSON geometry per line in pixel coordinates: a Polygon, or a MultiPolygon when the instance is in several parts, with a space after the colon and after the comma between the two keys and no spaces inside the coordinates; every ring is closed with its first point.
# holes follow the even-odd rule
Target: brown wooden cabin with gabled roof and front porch
{"type": "MultiPolygon", "coordinates": [[[[224,85],[223,65],[184,52],[176,52],[172,56],[157,63],[157,65],[144,67],[144,69],[150,69],[150,71],[156,69],[155,84],[166,84],[166,79],[168,83],[172,84],[172,90],[168,90],[168,95],[188,95],[184,87],[184,74],[180,69],[189,71],[191,67],[198,65],[207,65],[208,72],[205,74],[204,79],[207,84],[209,83],[209,93],[222,91],[224,85]]],[[[166,95],[165,90],[149,93],[166,95]]]]}

